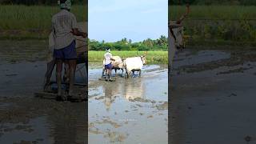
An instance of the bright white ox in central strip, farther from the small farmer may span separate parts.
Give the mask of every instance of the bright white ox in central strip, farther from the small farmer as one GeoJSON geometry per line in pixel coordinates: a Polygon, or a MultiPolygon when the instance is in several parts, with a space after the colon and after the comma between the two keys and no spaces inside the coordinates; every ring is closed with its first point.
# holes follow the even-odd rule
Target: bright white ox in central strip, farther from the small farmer
{"type": "Polygon", "coordinates": [[[123,65],[126,69],[126,78],[129,78],[131,73],[134,74],[134,71],[139,72],[139,76],[142,74],[142,66],[146,64],[146,56],[126,58],[123,62],[123,65]]]}

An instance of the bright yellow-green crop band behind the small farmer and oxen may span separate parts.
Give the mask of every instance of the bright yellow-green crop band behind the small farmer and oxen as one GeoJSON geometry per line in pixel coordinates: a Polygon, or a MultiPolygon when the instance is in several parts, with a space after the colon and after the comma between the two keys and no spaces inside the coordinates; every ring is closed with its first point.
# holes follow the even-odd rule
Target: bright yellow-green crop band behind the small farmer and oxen
{"type": "MultiPolygon", "coordinates": [[[[113,55],[118,55],[121,58],[136,57],[145,54],[146,51],[111,51],[113,55]]],[[[168,51],[148,51],[146,54],[147,63],[168,63],[168,51]]],[[[93,51],[88,52],[89,62],[102,62],[105,51],[93,51]]]]}

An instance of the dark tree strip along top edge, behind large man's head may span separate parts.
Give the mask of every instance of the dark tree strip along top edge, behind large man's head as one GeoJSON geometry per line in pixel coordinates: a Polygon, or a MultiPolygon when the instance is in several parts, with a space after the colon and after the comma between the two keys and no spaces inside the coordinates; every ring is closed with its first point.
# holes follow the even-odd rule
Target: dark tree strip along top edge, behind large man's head
{"type": "MultiPolygon", "coordinates": [[[[72,0],[74,4],[84,4],[87,0],[72,0]]],[[[58,1],[56,0],[0,0],[0,4],[22,4],[22,5],[56,5],[58,1]]]]}

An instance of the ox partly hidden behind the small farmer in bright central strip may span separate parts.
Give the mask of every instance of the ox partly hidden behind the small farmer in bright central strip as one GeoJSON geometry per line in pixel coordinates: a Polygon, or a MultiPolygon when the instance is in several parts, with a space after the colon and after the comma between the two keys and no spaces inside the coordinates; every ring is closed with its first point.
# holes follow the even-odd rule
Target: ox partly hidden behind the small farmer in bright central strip
{"type": "MultiPolygon", "coordinates": [[[[114,61],[111,61],[112,64],[112,70],[114,70],[115,75],[117,75],[117,70],[122,70],[122,74],[123,74],[123,62],[122,62],[122,58],[120,58],[119,56],[113,56],[112,57],[114,59],[114,61]]],[[[103,70],[102,70],[102,77],[104,76],[105,73],[105,59],[103,60],[103,70]]]]}

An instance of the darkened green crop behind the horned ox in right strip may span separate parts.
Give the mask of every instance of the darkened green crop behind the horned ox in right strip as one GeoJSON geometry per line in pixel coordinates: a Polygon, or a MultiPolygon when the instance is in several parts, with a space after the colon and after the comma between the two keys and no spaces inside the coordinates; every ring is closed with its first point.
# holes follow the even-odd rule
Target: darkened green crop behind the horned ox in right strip
{"type": "MultiPolygon", "coordinates": [[[[184,14],[185,6],[170,6],[169,18],[184,14]]],[[[188,46],[256,46],[256,6],[190,6],[183,23],[188,46]]]]}

